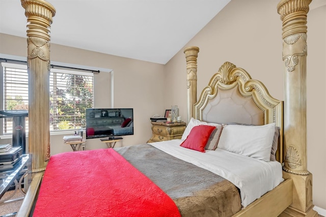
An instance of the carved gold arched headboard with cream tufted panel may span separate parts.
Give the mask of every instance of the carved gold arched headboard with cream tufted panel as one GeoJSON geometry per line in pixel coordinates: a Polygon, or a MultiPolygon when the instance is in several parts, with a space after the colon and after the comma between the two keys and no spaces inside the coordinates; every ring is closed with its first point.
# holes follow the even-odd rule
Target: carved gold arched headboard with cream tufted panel
{"type": "Polygon", "coordinates": [[[277,160],[283,162],[283,101],[270,96],[266,87],[248,72],[225,62],[194,104],[193,117],[213,123],[263,125],[280,127],[277,160]]]}

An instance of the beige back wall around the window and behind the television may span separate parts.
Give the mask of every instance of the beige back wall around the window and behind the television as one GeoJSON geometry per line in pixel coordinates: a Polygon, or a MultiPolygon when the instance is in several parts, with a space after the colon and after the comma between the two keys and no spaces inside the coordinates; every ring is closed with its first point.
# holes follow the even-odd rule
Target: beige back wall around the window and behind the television
{"type": "MultiPolygon", "coordinates": [[[[25,38],[0,34],[0,53],[26,57],[25,38]]],[[[123,137],[128,146],[146,143],[151,138],[150,116],[163,115],[164,65],[128,58],[121,58],[89,50],[51,44],[51,61],[114,70],[114,107],[131,107],[134,115],[134,135],[123,137]]],[[[110,107],[110,76],[106,72],[94,75],[95,107],[110,107]]],[[[71,151],[62,142],[63,135],[51,135],[51,154],[71,151]]],[[[10,140],[7,140],[10,142],[10,140]]],[[[5,143],[6,141],[0,141],[5,143]]],[[[105,148],[99,139],[87,141],[87,149],[105,148]]]]}

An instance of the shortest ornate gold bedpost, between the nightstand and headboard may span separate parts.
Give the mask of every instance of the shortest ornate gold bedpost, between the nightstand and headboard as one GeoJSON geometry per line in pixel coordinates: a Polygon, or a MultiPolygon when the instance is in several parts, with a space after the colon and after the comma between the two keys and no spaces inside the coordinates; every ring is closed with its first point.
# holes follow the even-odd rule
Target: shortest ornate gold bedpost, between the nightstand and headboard
{"type": "Polygon", "coordinates": [[[198,47],[186,47],[183,52],[187,63],[187,123],[194,117],[194,104],[197,102],[197,57],[198,47]]]}

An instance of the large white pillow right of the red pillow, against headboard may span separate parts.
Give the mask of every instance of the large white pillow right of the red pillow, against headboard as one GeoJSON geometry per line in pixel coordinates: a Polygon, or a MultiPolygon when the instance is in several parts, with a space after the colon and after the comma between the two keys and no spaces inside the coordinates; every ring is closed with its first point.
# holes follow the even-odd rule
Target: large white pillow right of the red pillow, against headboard
{"type": "Polygon", "coordinates": [[[218,148],[269,161],[275,123],[261,126],[223,126],[218,148]]]}

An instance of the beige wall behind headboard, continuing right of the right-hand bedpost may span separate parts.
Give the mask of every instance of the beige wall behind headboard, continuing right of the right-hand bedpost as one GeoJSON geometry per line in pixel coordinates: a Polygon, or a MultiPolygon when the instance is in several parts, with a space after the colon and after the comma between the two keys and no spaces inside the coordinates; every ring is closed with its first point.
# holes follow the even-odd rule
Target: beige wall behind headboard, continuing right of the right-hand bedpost
{"type": "MultiPolygon", "coordinates": [[[[315,0],[313,0],[315,1],[315,0]]],[[[284,100],[282,22],[278,0],[232,0],[186,46],[198,46],[198,90],[229,61],[261,80],[275,98],[284,100]],[[250,16],[248,16],[250,15],[250,16]]],[[[308,14],[307,110],[308,170],[313,174],[313,202],[326,209],[325,20],[326,6],[308,14]],[[317,93],[318,92],[318,93],[317,93]]],[[[194,13],[196,16],[196,13],[194,13]]],[[[165,105],[178,104],[186,117],[186,70],[183,49],[166,64],[171,82],[165,105]],[[173,96],[173,97],[170,97],[173,96]]],[[[200,92],[197,92],[199,97],[200,92]]]]}

